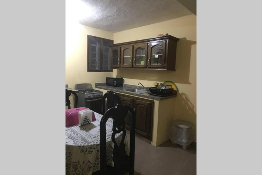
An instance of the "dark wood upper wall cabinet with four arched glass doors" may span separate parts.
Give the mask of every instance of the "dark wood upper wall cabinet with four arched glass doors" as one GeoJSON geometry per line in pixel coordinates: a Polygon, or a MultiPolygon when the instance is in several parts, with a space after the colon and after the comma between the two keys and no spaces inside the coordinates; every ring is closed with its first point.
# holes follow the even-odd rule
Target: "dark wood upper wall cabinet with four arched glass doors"
{"type": "Polygon", "coordinates": [[[121,65],[114,68],[174,71],[178,40],[179,38],[167,35],[113,44],[112,48],[121,47],[121,65]]]}

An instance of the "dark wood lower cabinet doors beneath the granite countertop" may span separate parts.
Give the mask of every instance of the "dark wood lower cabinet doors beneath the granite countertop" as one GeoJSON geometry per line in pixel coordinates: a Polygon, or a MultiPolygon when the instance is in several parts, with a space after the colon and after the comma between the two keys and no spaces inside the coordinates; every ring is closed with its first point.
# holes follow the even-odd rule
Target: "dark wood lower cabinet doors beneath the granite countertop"
{"type": "MultiPolygon", "coordinates": [[[[118,93],[117,93],[118,94],[118,93]]],[[[152,141],[154,101],[118,94],[122,105],[128,105],[136,114],[135,132],[152,141]]],[[[129,114],[125,117],[125,127],[129,129],[129,114]]]]}

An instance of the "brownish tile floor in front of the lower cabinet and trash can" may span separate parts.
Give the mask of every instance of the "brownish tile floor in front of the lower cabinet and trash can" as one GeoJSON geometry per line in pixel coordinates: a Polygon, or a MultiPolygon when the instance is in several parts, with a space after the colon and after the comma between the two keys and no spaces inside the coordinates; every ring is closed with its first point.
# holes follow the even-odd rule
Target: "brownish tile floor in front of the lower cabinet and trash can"
{"type": "MultiPolygon", "coordinates": [[[[129,134],[127,134],[129,138],[129,134]]],[[[136,175],[194,175],[196,174],[196,143],[188,150],[168,140],[155,147],[135,138],[136,175]]]]}

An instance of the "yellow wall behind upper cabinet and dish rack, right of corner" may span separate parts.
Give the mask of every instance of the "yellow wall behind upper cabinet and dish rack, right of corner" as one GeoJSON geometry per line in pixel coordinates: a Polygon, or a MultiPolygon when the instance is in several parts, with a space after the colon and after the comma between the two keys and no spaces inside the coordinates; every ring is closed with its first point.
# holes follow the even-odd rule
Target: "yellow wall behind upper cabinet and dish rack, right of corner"
{"type": "MultiPolygon", "coordinates": [[[[180,39],[177,43],[176,71],[114,69],[114,76],[123,77],[126,84],[137,85],[141,82],[148,87],[153,87],[154,82],[173,81],[179,89],[178,96],[172,101],[169,100],[167,104],[162,100],[159,101],[159,107],[167,109],[165,105],[168,105],[170,109],[174,109],[173,113],[168,113],[168,118],[173,115],[171,117],[173,119],[184,119],[196,126],[196,16],[188,15],[117,32],[114,33],[114,43],[154,38],[158,34],[166,33],[180,39]]],[[[164,134],[166,126],[162,125],[161,128],[160,125],[157,133],[164,134]]]]}

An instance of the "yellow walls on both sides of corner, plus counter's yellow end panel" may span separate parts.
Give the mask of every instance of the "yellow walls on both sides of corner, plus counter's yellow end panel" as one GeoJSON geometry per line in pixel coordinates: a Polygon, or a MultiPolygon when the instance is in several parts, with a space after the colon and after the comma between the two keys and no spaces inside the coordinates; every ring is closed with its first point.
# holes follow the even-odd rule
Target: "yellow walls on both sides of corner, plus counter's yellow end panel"
{"type": "Polygon", "coordinates": [[[179,88],[176,98],[155,100],[152,144],[159,145],[168,138],[168,120],[184,119],[196,126],[196,16],[188,15],[114,34],[81,24],[67,25],[65,76],[70,88],[77,83],[87,82],[95,88],[95,83],[105,82],[108,76],[122,76],[125,84],[137,85],[141,82],[148,87],[153,87],[154,82],[167,80],[176,83],[179,88]],[[177,43],[176,71],[114,69],[113,73],[87,72],[87,34],[122,43],[166,33],[180,38],[177,43]]]}

